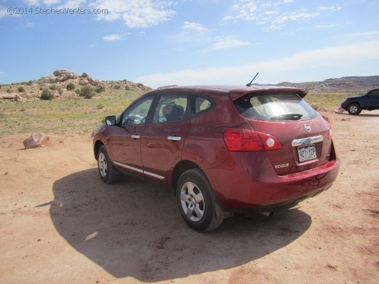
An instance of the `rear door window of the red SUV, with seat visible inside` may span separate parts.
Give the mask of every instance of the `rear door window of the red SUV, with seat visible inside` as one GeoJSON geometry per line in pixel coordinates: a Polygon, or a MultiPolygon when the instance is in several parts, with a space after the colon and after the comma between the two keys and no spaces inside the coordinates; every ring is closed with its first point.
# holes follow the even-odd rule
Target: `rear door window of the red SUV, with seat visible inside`
{"type": "Polygon", "coordinates": [[[173,122],[186,119],[186,94],[162,94],[153,116],[153,123],[173,122]]]}

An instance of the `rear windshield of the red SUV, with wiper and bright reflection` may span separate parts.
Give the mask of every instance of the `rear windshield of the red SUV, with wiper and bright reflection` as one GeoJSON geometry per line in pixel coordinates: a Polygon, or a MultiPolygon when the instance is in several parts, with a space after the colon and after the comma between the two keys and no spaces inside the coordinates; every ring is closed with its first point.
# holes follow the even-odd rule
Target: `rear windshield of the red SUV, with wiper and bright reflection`
{"type": "Polygon", "coordinates": [[[307,120],[317,116],[296,93],[251,93],[235,100],[234,105],[246,118],[257,120],[307,120]]]}

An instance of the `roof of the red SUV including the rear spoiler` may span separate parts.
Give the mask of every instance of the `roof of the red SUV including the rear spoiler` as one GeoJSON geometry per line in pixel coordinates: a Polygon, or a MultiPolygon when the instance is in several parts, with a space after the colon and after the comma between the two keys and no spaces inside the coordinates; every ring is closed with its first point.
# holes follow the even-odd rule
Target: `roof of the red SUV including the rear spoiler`
{"type": "Polygon", "coordinates": [[[175,86],[161,88],[158,91],[196,91],[196,92],[212,92],[213,95],[220,95],[229,93],[230,98],[234,101],[247,93],[254,92],[294,92],[299,97],[304,98],[308,90],[293,87],[279,87],[279,86],[238,86],[238,85],[192,85],[192,86],[175,86]]]}

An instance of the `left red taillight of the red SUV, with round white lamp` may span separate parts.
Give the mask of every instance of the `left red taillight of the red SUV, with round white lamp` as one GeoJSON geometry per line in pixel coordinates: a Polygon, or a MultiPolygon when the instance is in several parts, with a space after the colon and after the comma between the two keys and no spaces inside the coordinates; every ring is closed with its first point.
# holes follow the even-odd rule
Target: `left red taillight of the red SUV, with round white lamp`
{"type": "Polygon", "coordinates": [[[229,151],[280,149],[280,144],[274,136],[248,129],[225,129],[224,141],[229,151]]]}

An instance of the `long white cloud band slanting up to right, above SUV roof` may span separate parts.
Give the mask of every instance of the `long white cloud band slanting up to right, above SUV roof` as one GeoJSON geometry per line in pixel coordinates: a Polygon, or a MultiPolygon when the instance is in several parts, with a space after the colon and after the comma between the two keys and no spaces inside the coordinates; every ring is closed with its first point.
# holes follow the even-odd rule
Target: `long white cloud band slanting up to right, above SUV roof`
{"type": "MultiPolygon", "coordinates": [[[[306,51],[286,58],[265,62],[223,68],[208,67],[199,70],[178,70],[165,74],[140,76],[136,80],[156,87],[173,84],[241,84],[244,79],[247,80],[256,71],[270,74],[270,76],[278,75],[283,78],[289,71],[298,71],[299,74],[303,74],[305,70],[309,72],[313,68],[323,66],[336,68],[364,60],[379,60],[377,46],[379,46],[379,40],[374,40],[306,51]]],[[[273,82],[271,81],[271,83],[273,82]]]]}

